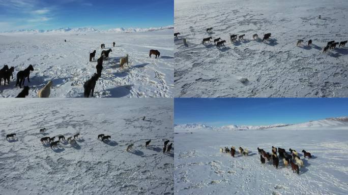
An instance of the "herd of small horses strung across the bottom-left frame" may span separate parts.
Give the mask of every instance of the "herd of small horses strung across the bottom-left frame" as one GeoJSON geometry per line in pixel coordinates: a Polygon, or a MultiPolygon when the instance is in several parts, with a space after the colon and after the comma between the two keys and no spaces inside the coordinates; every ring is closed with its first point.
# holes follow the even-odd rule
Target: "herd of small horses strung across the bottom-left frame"
{"type": "MultiPolygon", "coordinates": [[[[45,132],[46,132],[46,128],[41,128],[39,131],[40,134],[45,134],[45,132]]],[[[69,135],[71,135],[71,134],[69,134],[69,135]]],[[[53,137],[42,137],[42,138],[40,138],[40,141],[43,145],[49,144],[50,148],[54,150],[54,149],[59,148],[59,145],[58,145],[59,143],[64,143],[64,142],[69,143],[72,147],[76,146],[77,145],[76,139],[79,139],[78,136],[80,136],[80,133],[74,134],[73,136],[70,136],[67,139],[65,139],[64,135],[57,135],[57,136],[53,136],[53,137]],[[54,141],[56,139],[56,137],[58,138],[58,140],[54,141]]],[[[6,135],[6,140],[13,140],[13,139],[15,139],[15,137],[16,137],[15,133],[8,134],[8,135],[6,135]]],[[[99,134],[97,139],[101,140],[102,142],[108,142],[108,141],[110,141],[109,139],[111,139],[111,136],[99,134]]],[[[146,148],[150,146],[150,142],[151,142],[151,140],[149,140],[145,143],[146,148]]],[[[168,143],[169,143],[169,140],[166,140],[164,142],[163,153],[165,153],[165,152],[169,153],[170,150],[172,149],[173,143],[170,143],[170,144],[168,144],[168,143]]],[[[134,143],[129,144],[127,146],[126,151],[133,150],[133,146],[134,146],[134,143]]]]}

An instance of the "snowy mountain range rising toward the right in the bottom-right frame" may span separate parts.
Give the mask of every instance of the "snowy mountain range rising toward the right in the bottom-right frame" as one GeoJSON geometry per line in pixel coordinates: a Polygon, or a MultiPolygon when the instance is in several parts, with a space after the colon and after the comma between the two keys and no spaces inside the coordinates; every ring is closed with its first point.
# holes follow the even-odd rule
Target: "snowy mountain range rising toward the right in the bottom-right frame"
{"type": "Polygon", "coordinates": [[[299,124],[271,124],[271,125],[226,125],[221,127],[207,126],[205,124],[175,124],[174,129],[176,132],[187,132],[187,131],[201,131],[201,130],[214,130],[214,131],[238,131],[238,130],[256,130],[256,129],[267,129],[267,128],[279,128],[279,129],[307,129],[312,127],[343,127],[348,128],[348,117],[337,117],[327,118],[323,120],[309,121],[299,124]]]}

